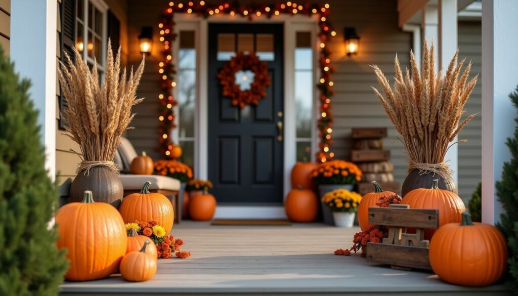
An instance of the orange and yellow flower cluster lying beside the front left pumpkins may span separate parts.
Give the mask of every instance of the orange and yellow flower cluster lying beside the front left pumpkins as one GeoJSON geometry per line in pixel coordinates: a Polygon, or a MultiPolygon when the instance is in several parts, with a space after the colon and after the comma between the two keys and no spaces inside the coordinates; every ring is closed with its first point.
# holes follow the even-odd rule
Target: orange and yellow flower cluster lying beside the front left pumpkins
{"type": "Polygon", "coordinates": [[[135,223],[140,227],[140,230],[138,231],[139,234],[146,235],[151,238],[156,246],[159,258],[169,259],[173,256],[173,253],[175,253],[176,257],[182,259],[189,258],[191,256],[191,252],[180,250],[181,246],[184,245],[183,239],[175,239],[174,235],[164,235],[162,237],[157,237],[153,232],[153,228],[156,228],[160,225],[157,225],[156,221],[135,221],[135,223]],[[181,254],[179,255],[179,253],[181,254]]]}

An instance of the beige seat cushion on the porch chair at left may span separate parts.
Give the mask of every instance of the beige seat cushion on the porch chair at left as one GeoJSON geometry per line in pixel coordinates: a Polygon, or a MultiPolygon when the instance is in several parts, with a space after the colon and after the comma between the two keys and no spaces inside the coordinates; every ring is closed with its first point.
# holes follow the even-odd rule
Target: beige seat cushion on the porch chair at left
{"type": "Polygon", "coordinates": [[[180,181],[160,175],[120,175],[124,190],[140,190],[146,181],[151,182],[151,190],[180,191],[180,181]]]}

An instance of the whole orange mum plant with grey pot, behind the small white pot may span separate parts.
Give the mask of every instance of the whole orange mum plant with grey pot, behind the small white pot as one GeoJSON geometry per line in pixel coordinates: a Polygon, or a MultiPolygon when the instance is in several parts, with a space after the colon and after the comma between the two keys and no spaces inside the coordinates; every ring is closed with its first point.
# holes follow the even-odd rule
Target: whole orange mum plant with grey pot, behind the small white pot
{"type": "MultiPolygon", "coordinates": [[[[354,185],[362,179],[362,171],[352,162],[344,160],[331,160],[319,164],[311,176],[318,185],[320,197],[336,189],[352,191],[354,185]]],[[[322,218],[324,223],[333,224],[333,213],[322,203],[322,218]]]]}

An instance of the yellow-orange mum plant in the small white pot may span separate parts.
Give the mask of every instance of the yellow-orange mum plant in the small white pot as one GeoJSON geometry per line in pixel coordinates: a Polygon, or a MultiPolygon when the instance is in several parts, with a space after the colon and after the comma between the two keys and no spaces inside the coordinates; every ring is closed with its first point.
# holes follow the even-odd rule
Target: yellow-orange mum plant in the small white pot
{"type": "Polygon", "coordinates": [[[362,195],[347,189],[336,189],[322,196],[322,202],[333,212],[335,225],[353,227],[354,217],[362,195]]]}

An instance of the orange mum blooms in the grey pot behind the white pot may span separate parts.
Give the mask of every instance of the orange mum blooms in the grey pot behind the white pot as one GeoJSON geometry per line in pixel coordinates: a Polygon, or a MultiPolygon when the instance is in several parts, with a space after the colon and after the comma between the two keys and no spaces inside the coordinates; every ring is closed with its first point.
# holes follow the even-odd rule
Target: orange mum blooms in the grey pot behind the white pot
{"type": "Polygon", "coordinates": [[[319,164],[311,176],[316,184],[356,184],[362,179],[362,171],[352,162],[332,160],[319,164]]]}

